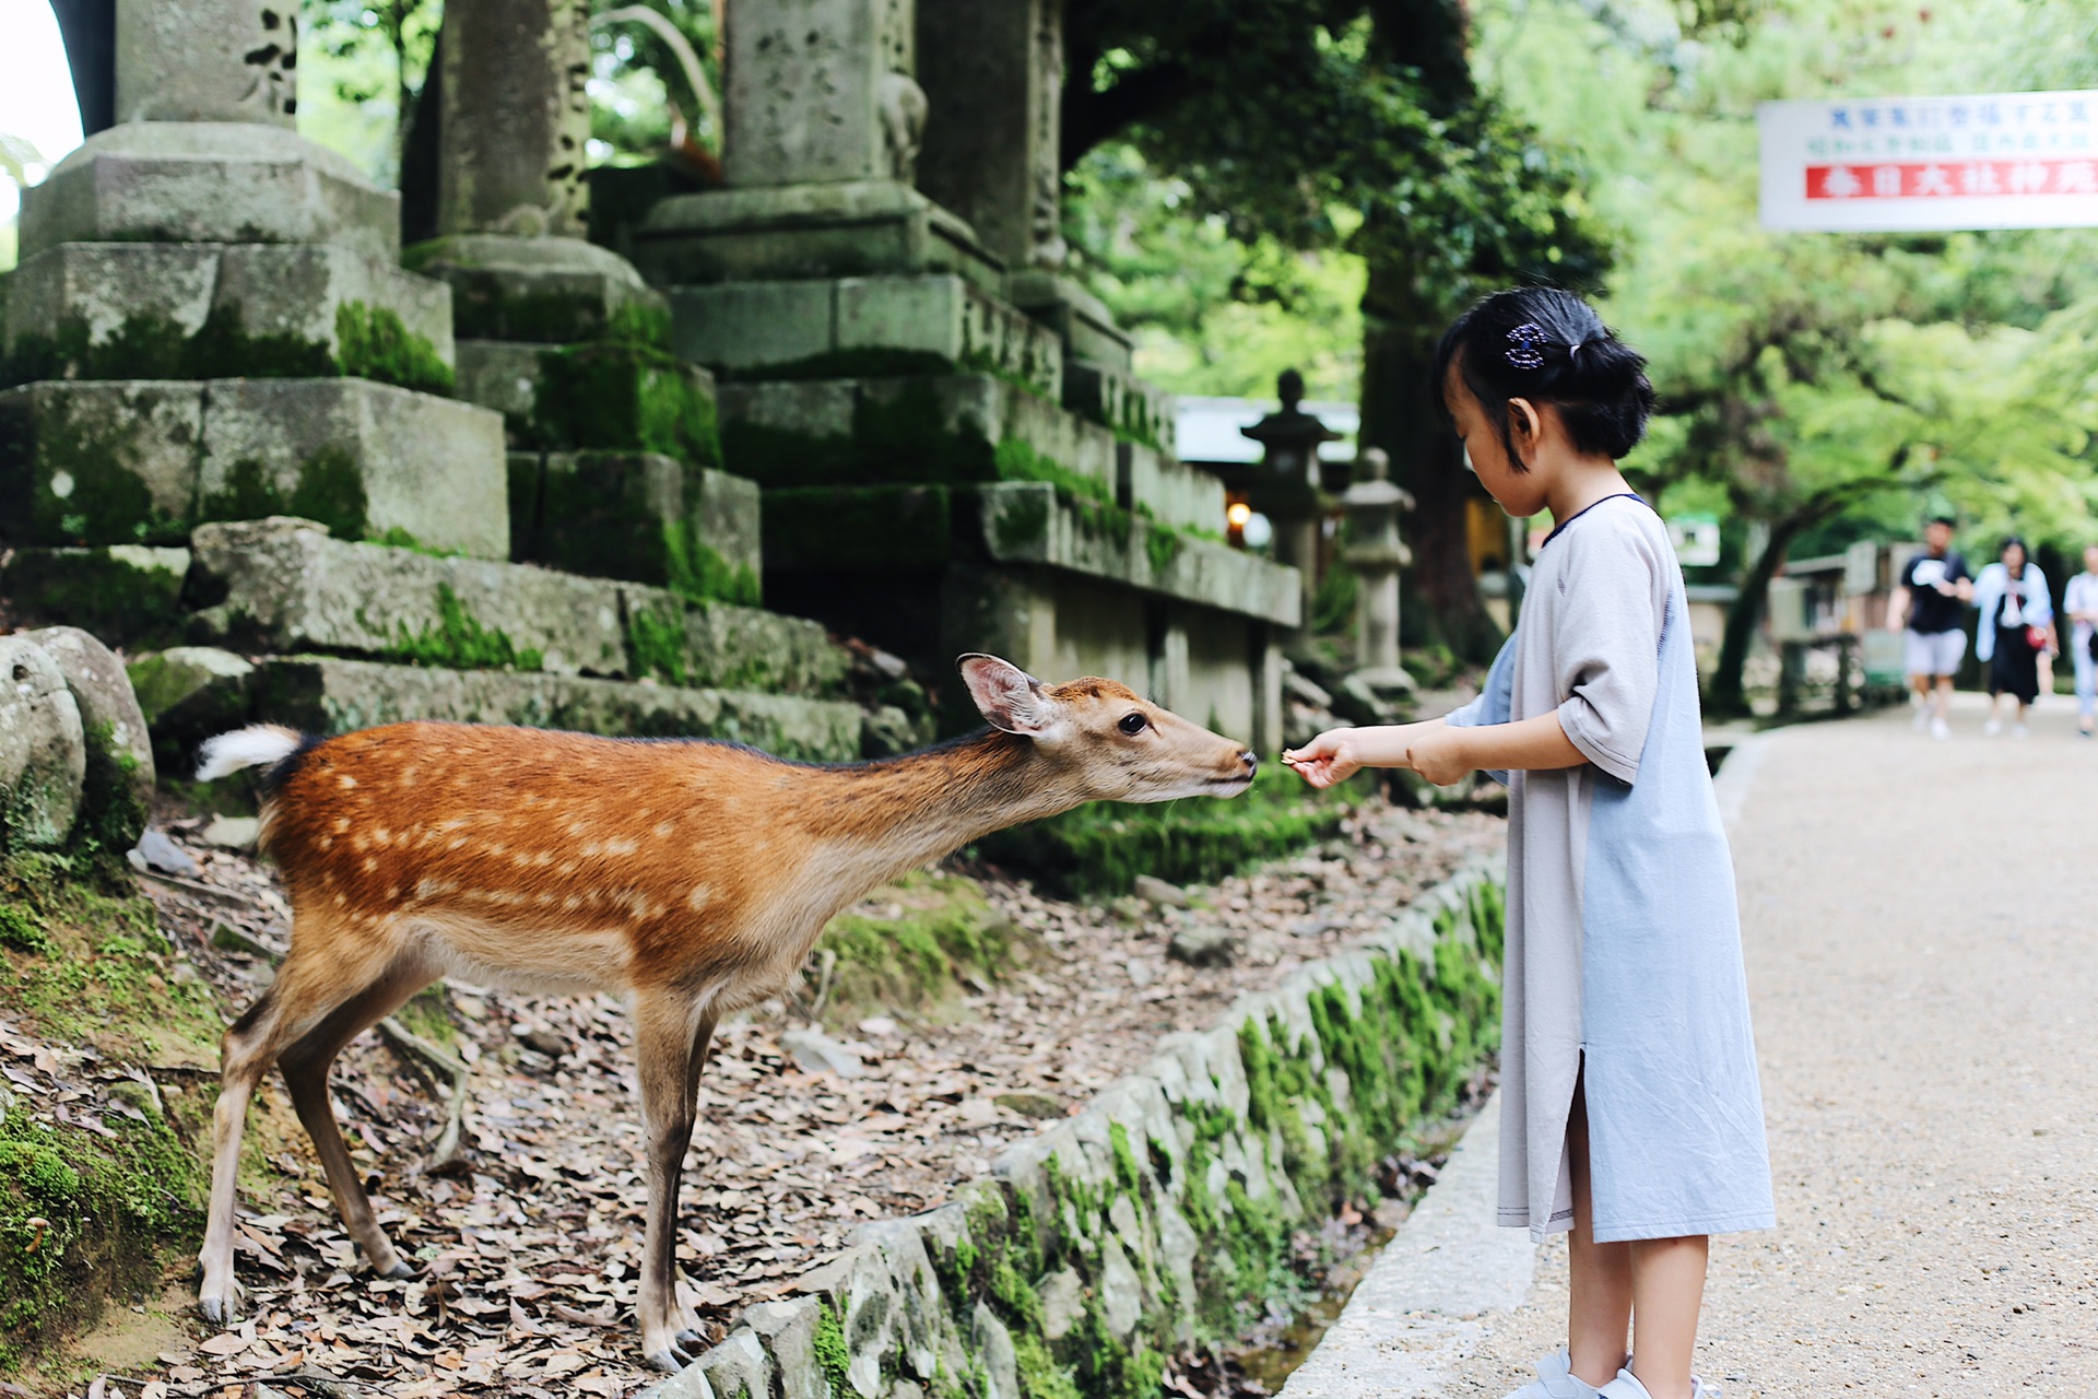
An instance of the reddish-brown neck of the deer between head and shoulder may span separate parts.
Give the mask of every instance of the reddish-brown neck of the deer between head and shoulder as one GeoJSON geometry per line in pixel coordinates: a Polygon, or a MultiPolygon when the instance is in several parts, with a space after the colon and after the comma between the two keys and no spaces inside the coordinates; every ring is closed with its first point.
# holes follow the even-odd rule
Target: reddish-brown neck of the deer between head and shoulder
{"type": "Polygon", "coordinates": [[[841,856],[854,856],[850,862],[871,883],[1085,801],[1076,782],[1055,772],[1032,740],[997,730],[812,776],[816,789],[797,824],[841,856]]]}

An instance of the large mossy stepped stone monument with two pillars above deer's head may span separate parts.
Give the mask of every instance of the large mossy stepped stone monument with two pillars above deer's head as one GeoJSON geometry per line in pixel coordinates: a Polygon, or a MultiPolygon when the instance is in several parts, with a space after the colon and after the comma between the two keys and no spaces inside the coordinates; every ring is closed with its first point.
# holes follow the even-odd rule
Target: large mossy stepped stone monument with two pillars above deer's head
{"type": "Polygon", "coordinates": [[[1221,482],[1051,266],[1057,46],[1045,0],[736,0],[730,189],[631,254],[724,375],[776,604],[942,669],[1120,675],[1271,751],[1297,579],[1223,543],[1221,482]]]}

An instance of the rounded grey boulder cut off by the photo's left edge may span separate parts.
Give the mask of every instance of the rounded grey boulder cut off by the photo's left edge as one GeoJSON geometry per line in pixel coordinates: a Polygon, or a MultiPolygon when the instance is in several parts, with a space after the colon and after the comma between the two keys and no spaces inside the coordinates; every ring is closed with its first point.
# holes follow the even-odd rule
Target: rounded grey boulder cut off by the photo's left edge
{"type": "Polygon", "coordinates": [[[36,642],[0,638],[0,843],[63,845],[86,776],[86,730],[65,671],[36,642]]]}

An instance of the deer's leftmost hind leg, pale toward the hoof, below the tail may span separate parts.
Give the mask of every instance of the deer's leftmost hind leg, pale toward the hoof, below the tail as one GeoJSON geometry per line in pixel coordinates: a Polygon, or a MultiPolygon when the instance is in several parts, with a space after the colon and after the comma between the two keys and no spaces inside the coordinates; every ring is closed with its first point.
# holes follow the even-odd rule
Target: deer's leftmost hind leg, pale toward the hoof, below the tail
{"type": "MultiPolygon", "coordinates": [[[[233,1206],[248,1099],[254,1097],[262,1074],[290,1047],[313,1034],[338,1007],[359,998],[380,982],[392,963],[392,948],[380,946],[376,940],[363,940],[359,946],[348,929],[319,931],[319,940],[294,935],[292,954],[277,971],[277,980],[248,1007],[245,1015],[233,1021],[218,1047],[218,1105],[212,1110],[212,1200],[204,1227],[204,1248],[197,1254],[204,1269],[197,1307],[210,1321],[229,1321],[239,1305],[239,1284],[233,1279],[233,1206]]],[[[302,1112],[300,1118],[304,1116],[302,1112]]],[[[313,1131],[311,1122],[306,1131],[313,1131]]],[[[340,1137],[336,1141],[340,1145],[340,1137]]]]}

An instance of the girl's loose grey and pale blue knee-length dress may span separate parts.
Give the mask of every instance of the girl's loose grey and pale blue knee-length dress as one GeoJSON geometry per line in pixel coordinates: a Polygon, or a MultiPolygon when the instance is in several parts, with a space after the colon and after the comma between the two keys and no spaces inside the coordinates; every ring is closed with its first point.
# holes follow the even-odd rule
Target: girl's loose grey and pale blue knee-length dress
{"type": "Polygon", "coordinates": [[[1775,1227],[1683,573],[1639,497],[1553,533],[1485,692],[1450,724],[1555,709],[1588,761],[1506,774],[1500,1223],[1574,1227],[1582,1080],[1597,1242],[1775,1227]]]}

